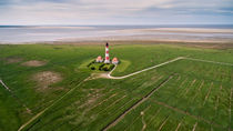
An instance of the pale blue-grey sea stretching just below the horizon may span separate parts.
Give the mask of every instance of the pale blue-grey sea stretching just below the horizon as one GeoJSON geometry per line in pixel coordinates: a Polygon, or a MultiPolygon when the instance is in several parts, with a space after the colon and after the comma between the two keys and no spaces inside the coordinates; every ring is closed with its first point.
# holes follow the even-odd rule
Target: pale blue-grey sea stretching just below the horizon
{"type": "Polygon", "coordinates": [[[53,41],[83,41],[104,37],[154,36],[163,39],[220,38],[232,39],[231,32],[141,31],[141,29],[220,29],[233,30],[233,24],[160,24],[160,26],[0,26],[0,44],[53,41]]]}

